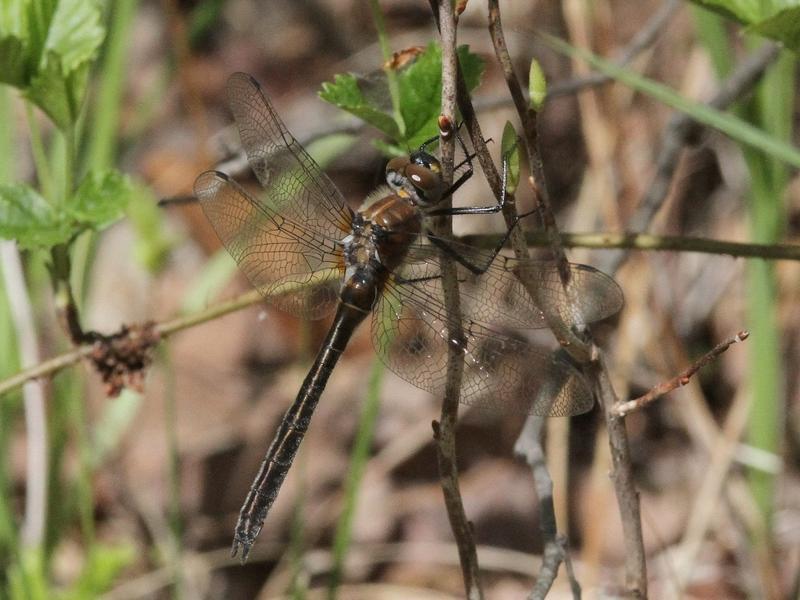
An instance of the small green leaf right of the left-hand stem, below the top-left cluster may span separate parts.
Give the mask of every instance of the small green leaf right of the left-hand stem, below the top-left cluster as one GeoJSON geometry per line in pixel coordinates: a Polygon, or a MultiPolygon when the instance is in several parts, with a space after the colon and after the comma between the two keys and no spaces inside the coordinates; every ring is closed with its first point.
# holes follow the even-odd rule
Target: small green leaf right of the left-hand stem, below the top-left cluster
{"type": "Polygon", "coordinates": [[[119,171],[91,171],[67,205],[67,215],[83,228],[104,229],[122,218],[134,189],[130,178],[119,171]]]}

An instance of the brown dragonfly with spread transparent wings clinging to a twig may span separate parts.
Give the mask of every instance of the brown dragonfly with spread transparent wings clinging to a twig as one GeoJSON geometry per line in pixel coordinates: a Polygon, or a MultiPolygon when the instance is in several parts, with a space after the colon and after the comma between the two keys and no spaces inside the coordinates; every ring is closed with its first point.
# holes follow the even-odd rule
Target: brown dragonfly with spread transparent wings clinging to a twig
{"type": "Polygon", "coordinates": [[[195,181],[195,195],[224,246],[270,303],[306,319],[334,313],[242,505],[233,556],[241,551],[242,562],[247,559],[326,382],[367,317],[381,360],[433,394],[443,391],[448,349],[455,347],[464,362],[464,404],[543,416],[592,407],[590,387],[564,353],[537,348],[520,332],[546,327],[548,311],[585,323],[613,315],[623,300],[611,277],[569,264],[565,288],[554,261],[516,260],[499,248],[479,250],[435,235],[433,217],[497,212],[501,204],[442,206],[471,174],[471,164],[448,188],[438,159],[424,147],[389,160],[386,184],[353,210],[289,133],[255,79],[232,75],[227,99],[262,189],[251,193],[225,173],[206,171],[195,181]],[[450,334],[442,256],[457,265],[459,337],[450,334]],[[517,277],[523,270],[537,282],[536,294],[517,277]]]}

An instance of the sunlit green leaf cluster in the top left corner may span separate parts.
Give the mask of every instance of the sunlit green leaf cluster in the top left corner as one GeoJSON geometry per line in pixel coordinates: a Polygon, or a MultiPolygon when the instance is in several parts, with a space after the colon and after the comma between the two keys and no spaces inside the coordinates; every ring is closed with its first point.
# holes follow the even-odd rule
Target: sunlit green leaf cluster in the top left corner
{"type": "Polygon", "coordinates": [[[105,36],[96,0],[6,0],[0,9],[0,82],[61,129],[78,118],[89,67],[105,36]]]}

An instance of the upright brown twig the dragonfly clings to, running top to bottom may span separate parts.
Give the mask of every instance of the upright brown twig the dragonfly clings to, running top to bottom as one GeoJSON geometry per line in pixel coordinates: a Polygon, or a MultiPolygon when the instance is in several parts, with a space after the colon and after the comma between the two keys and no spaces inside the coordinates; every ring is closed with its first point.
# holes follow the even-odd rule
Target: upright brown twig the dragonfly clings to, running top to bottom
{"type": "MultiPolygon", "coordinates": [[[[442,112],[440,123],[452,126],[456,122],[456,79],[458,76],[458,56],[456,54],[456,21],[453,5],[450,0],[431,0],[431,10],[436,18],[442,40],[442,112]]],[[[453,180],[453,159],[455,155],[455,136],[452,131],[443,131],[440,135],[440,152],[443,181],[450,185],[453,180]],[[447,135],[449,133],[449,135],[447,135]]],[[[453,234],[451,219],[442,219],[438,225],[438,233],[451,237],[453,234]]],[[[447,307],[447,333],[451,340],[464,340],[461,325],[461,308],[458,289],[458,273],[453,260],[440,253],[442,268],[442,288],[447,307]]],[[[447,378],[445,381],[442,413],[439,423],[434,421],[433,431],[436,440],[439,479],[444,494],[447,516],[458,546],[461,573],[464,579],[466,597],[470,600],[483,598],[478,554],[472,536],[472,526],[467,520],[461,492],[458,484],[458,466],[456,464],[455,430],[458,419],[458,404],[461,391],[461,380],[464,373],[464,360],[461,354],[463,344],[449,344],[447,356],[447,378]]]]}

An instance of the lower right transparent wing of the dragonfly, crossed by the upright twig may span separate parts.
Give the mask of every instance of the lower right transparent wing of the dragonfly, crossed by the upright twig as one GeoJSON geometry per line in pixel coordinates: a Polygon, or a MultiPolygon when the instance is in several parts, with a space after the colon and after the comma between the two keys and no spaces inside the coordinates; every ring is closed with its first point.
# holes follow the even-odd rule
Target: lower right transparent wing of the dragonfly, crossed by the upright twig
{"type": "MultiPolygon", "coordinates": [[[[372,338],[384,363],[406,381],[441,395],[447,376],[447,314],[427,282],[393,280],[373,312],[372,338]],[[421,287],[420,287],[421,286],[421,287]]],[[[560,351],[548,352],[464,319],[461,402],[500,412],[567,416],[586,412],[593,397],[560,351]]]]}

